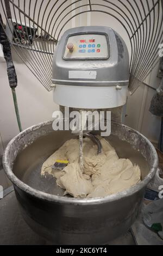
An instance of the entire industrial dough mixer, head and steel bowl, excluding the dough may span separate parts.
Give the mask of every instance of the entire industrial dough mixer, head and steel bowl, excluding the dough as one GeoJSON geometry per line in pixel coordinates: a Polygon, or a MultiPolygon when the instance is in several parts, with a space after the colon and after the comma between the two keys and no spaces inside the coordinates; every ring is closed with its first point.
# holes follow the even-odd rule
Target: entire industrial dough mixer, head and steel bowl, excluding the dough
{"type": "Polygon", "coordinates": [[[111,28],[69,29],[55,49],[54,101],[61,109],[113,109],[111,135],[106,139],[119,157],[139,165],[139,184],[103,198],[63,197],[53,178],[42,178],[40,169],[43,161],[74,135],[71,131],[54,131],[51,121],[23,131],[5,150],[4,169],[14,183],[24,220],[54,244],[107,243],[126,232],[139,214],[158,159],[148,139],[121,124],[128,76],[126,44],[111,28]]]}

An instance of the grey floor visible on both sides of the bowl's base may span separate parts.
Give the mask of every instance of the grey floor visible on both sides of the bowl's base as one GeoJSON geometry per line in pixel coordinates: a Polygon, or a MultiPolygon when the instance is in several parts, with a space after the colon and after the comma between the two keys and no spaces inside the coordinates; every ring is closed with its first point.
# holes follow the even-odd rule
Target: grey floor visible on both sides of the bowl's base
{"type": "MultiPolygon", "coordinates": [[[[0,245],[47,245],[23,220],[20,207],[11,192],[0,200],[0,245]]],[[[109,245],[135,245],[131,231],[127,231],[109,245]]]]}

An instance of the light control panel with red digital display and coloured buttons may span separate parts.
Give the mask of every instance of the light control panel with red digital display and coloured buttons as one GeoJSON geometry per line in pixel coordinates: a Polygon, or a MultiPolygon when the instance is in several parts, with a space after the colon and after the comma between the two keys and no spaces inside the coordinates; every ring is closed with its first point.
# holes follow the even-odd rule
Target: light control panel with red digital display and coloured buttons
{"type": "Polygon", "coordinates": [[[105,34],[77,34],[68,37],[64,59],[106,59],[110,57],[105,34]]]}

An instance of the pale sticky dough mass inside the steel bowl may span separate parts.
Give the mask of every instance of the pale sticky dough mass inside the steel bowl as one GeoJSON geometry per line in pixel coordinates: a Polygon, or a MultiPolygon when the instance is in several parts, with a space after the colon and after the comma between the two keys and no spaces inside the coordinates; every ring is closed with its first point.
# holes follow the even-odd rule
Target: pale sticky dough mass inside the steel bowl
{"type": "Polygon", "coordinates": [[[97,155],[97,145],[89,138],[83,139],[84,172],[79,168],[79,141],[66,141],[43,163],[41,174],[49,173],[57,179],[57,185],[65,194],[73,197],[105,197],[121,192],[140,181],[140,168],[129,159],[119,159],[108,141],[98,136],[102,153],[97,155]],[[52,169],[56,160],[68,160],[63,170],[52,169]]]}

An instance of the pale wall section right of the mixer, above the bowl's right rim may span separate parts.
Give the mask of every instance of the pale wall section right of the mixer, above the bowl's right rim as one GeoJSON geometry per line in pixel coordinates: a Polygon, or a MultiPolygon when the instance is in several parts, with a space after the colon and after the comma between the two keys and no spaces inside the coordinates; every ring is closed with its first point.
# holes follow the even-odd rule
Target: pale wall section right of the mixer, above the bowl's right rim
{"type": "MultiPolygon", "coordinates": [[[[153,88],[158,88],[160,83],[160,79],[156,77],[157,72],[158,66],[145,81],[153,88]]],[[[141,132],[156,146],[160,136],[161,118],[149,112],[155,93],[155,90],[142,84],[133,95],[128,95],[125,124],[141,132]]]]}

